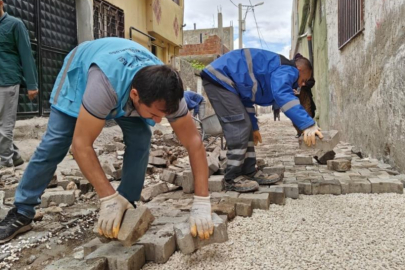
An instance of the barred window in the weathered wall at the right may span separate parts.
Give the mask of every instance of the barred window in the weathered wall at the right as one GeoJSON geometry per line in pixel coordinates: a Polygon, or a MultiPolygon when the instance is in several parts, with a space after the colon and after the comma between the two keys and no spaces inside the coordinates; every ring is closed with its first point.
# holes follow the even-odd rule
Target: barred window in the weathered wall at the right
{"type": "Polygon", "coordinates": [[[364,29],[364,0],[339,0],[339,49],[364,29]]]}

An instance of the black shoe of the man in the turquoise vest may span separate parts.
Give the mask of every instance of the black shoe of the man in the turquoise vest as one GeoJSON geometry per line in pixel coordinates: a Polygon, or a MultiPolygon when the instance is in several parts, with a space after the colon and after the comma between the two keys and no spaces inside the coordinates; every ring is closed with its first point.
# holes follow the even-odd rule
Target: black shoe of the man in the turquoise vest
{"type": "Polygon", "coordinates": [[[17,213],[17,208],[8,211],[7,216],[0,222],[0,244],[4,244],[18,234],[32,229],[32,219],[17,213]]]}

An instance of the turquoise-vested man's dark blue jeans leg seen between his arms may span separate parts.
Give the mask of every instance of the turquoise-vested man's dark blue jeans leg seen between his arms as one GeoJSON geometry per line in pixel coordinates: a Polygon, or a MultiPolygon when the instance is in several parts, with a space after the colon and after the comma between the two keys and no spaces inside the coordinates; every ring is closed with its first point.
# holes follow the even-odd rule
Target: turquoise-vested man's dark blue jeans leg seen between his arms
{"type": "Polygon", "coordinates": [[[152,132],[149,125],[139,117],[121,117],[115,121],[122,129],[126,146],[118,192],[133,203],[141,196],[152,132]]]}

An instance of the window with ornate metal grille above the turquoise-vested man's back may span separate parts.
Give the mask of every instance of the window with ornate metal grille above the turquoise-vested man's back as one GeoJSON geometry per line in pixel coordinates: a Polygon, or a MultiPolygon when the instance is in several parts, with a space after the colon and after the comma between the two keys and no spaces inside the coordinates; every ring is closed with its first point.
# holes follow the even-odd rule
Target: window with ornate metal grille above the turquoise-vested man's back
{"type": "Polygon", "coordinates": [[[124,11],[102,0],[94,0],[94,39],[124,36],[124,11]]]}

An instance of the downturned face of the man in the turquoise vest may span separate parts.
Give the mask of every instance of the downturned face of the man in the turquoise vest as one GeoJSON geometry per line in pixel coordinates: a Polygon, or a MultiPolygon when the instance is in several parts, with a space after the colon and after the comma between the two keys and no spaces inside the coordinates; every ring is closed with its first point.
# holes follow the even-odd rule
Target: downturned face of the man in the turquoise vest
{"type": "Polygon", "coordinates": [[[166,116],[166,102],[163,100],[157,100],[152,102],[149,106],[139,102],[139,95],[136,89],[132,89],[130,93],[130,98],[134,103],[136,111],[140,116],[147,119],[152,119],[156,123],[160,123],[162,118],[166,116]]]}

